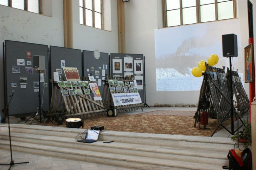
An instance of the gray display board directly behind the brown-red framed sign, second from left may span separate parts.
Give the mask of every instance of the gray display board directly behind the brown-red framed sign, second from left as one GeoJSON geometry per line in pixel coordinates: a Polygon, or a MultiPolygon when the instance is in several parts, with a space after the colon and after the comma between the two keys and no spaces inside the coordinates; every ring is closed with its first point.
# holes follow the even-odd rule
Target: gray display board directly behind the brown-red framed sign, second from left
{"type": "Polygon", "coordinates": [[[59,72],[59,76],[64,76],[63,67],[76,67],[79,76],[83,76],[82,72],[82,51],[64,47],[50,46],[50,61],[51,61],[51,79],[53,72],[59,72]]]}

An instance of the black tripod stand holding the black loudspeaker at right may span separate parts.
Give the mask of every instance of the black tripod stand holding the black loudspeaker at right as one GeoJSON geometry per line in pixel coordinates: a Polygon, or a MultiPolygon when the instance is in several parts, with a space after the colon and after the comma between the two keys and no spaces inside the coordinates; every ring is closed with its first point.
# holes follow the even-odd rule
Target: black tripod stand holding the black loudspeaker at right
{"type": "MultiPolygon", "coordinates": [[[[213,132],[213,134],[211,135],[211,137],[214,135],[214,133],[217,131],[217,129],[222,126],[226,131],[228,131],[231,135],[234,135],[235,132],[241,128],[242,126],[244,126],[244,122],[242,121],[242,119],[239,117],[239,115],[234,111],[234,105],[233,105],[233,81],[232,81],[232,62],[231,62],[231,57],[229,57],[229,85],[230,85],[230,108],[228,110],[228,112],[225,114],[225,116],[223,117],[223,119],[221,120],[220,124],[217,126],[217,128],[215,129],[215,131],[213,132]],[[239,120],[242,122],[242,125],[240,127],[237,127],[237,129],[234,131],[234,113],[235,115],[239,118],[239,120]],[[224,121],[224,119],[230,114],[230,118],[231,118],[231,132],[222,125],[222,122],[224,121]]],[[[237,119],[238,121],[238,119],[237,119]]]]}

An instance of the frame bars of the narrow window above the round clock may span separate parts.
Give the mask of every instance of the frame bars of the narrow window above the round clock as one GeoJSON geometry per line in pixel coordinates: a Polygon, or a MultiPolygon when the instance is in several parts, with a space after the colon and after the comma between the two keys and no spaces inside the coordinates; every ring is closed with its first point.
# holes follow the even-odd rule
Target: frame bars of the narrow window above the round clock
{"type": "MultiPolygon", "coordinates": [[[[95,27],[95,3],[94,3],[94,0],[92,0],[92,10],[88,9],[85,7],[85,1],[86,0],[82,0],[83,1],[83,7],[80,6],[79,4],[79,11],[80,11],[80,8],[83,8],[83,24],[82,25],[85,25],[85,26],[88,26],[88,27],[93,27],[93,28],[97,28],[95,27]],[[89,25],[86,25],[86,12],[85,10],[90,10],[92,11],[92,21],[93,21],[93,26],[89,26],[89,25]]],[[[103,28],[103,0],[100,0],[100,12],[97,12],[97,13],[100,13],[100,20],[101,20],[101,28],[97,28],[97,29],[101,29],[101,30],[104,30],[103,28]]],[[[79,15],[80,17],[80,15],[79,15]]],[[[80,19],[79,19],[80,20],[80,19]]],[[[81,23],[80,23],[81,24],[81,23]]]]}

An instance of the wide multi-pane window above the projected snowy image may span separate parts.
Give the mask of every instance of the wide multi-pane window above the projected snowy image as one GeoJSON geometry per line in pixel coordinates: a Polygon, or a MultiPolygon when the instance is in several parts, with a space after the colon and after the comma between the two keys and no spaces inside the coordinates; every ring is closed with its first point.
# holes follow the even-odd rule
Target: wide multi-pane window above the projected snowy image
{"type": "Polygon", "coordinates": [[[164,27],[231,19],[236,0],[162,0],[164,27]]]}

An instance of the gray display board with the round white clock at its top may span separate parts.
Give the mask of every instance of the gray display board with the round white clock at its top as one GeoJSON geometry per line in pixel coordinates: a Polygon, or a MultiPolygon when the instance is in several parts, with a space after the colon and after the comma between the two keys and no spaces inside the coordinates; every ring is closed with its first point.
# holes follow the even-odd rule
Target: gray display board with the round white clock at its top
{"type": "Polygon", "coordinates": [[[88,74],[92,74],[98,84],[99,92],[102,96],[104,84],[102,78],[105,79],[105,74],[109,75],[109,56],[108,53],[100,53],[100,57],[96,59],[93,51],[83,51],[83,66],[84,76],[88,77],[88,74]]]}

